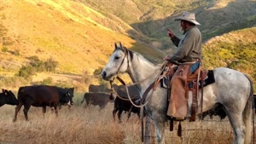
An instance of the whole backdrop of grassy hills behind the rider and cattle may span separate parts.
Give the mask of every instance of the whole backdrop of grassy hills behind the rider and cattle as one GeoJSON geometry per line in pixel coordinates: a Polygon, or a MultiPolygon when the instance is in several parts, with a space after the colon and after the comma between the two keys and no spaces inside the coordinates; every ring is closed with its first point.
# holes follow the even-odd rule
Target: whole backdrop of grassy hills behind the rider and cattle
{"type": "MultiPolygon", "coordinates": [[[[205,66],[230,66],[255,79],[255,66],[250,65],[255,64],[255,30],[232,32],[255,25],[255,7],[255,0],[1,1],[1,78],[13,77],[21,66],[32,62],[33,56],[57,61],[55,73],[73,74],[74,79],[83,78],[84,73],[90,76],[106,64],[115,42],[162,63],[162,58],[175,50],[166,37],[166,28],[180,36],[179,22],[174,18],[187,10],[195,12],[205,40],[231,32],[205,44],[205,66]],[[241,47],[246,49],[242,53],[241,47]]],[[[33,79],[47,79],[50,73],[43,75],[33,79]]]]}

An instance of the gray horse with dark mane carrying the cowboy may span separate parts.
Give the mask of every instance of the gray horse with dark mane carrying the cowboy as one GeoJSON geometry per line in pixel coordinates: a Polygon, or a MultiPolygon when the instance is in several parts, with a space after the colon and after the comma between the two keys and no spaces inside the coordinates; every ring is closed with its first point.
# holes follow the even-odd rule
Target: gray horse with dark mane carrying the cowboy
{"type": "MultiPolygon", "coordinates": [[[[137,52],[126,49],[121,43],[115,43],[115,49],[107,65],[102,70],[102,78],[113,80],[119,73],[128,72],[133,83],[139,84],[141,96],[160,76],[160,66],[146,60],[137,52]]],[[[253,85],[247,76],[235,70],[218,67],[213,70],[215,83],[203,88],[202,112],[217,104],[224,106],[234,131],[235,144],[250,143],[253,115],[253,85]]],[[[200,95],[201,97],[201,95],[200,95]]],[[[199,98],[200,99],[200,98],[199,98]]],[[[157,142],[165,143],[164,131],[167,112],[167,90],[158,85],[150,90],[146,98],[145,110],[153,118],[157,142]]],[[[201,107],[201,101],[198,102],[201,107]]],[[[197,111],[200,114],[201,108],[197,111]]]]}

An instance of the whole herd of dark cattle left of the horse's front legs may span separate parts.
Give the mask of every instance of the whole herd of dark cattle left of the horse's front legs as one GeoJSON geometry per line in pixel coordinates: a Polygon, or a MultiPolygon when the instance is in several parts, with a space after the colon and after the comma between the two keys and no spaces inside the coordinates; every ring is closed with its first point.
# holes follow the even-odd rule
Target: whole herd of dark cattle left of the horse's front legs
{"type": "MultiPolygon", "coordinates": [[[[139,105],[141,99],[137,87],[128,86],[129,95],[133,103],[139,105]]],[[[24,106],[23,112],[26,120],[28,120],[27,112],[30,107],[42,107],[43,114],[46,112],[46,107],[53,107],[56,116],[58,115],[58,108],[62,105],[71,107],[73,105],[74,88],[60,88],[49,85],[32,85],[24,86],[18,89],[17,98],[11,90],[3,89],[0,93],[0,107],[4,104],[16,106],[15,118],[17,120],[20,108],[24,106]]],[[[89,92],[84,93],[84,98],[81,104],[85,101],[84,107],[99,106],[104,108],[108,102],[113,102],[113,120],[118,112],[119,122],[121,122],[122,112],[128,112],[128,119],[131,117],[131,112],[137,114],[140,118],[140,108],[134,107],[127,97],[126,88],[124,85],[113,84],[113,89],[107,89],[104,85],[90,84],[89,92]]]]}

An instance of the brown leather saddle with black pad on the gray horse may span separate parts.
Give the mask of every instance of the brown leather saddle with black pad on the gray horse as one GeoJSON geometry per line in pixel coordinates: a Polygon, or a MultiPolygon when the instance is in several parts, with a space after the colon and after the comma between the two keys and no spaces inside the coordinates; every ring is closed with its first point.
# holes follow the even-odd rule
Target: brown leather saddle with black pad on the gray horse
{"type": "MultiPolygon", "coordinates": [[[[171,64],[167,64],[165,67],[165,70],[161,73],[160,77],[155,81],[154,83],[154,90],[156,89],[157,85],[161,83],[161,86],[163,88],[168,89],[168,100],[170,100],[171,97],[171,80],[173,74],[177,71],[177,66],[172,66],[171,64]]],[[[203,100],[203,90],[201,89],[201,100],[198,100],[199,96],[199,90],[201,87],[206,86],[207,84],[212,84],[214,83],[214,76],[212,70],[201,70],[201,66],[199,66],[195,72],[189,73],[187,78],[185,79],[185,84],[184,89],[185,89],[185,100],[183,99],[176,99],[177,101],[176,104],[178,105],[179,102],[181,105],[183,103],[187,103],[188,109],[190,109],[190,117],[189,121],[193,122],[195,121],[196,117],[196,112],[198,109],[198,101],[201,101],[201,111],[202,111],[202,100],[203,100]],[[189,91],[192,92],[192,103],[189,106],[189,91]]],[[[170,124],[170,130],[173,130],[173,120],[176,121],[183,121],[185,118],[170,118],[171,124],[170,124]]],[[[178,130],[177,130],[177,135],[181,136],[181,125],[178,125],[178,130]]]]}

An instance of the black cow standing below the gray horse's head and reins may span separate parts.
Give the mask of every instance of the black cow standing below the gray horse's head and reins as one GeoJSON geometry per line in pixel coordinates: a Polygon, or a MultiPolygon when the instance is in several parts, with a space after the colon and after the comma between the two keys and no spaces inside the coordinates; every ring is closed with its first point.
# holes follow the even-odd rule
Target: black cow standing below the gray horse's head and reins
{"type": "MultiPolygon", "coordinates": [[[[127,87],[129,91],[129,95],[132,98],[132,102],[135,103],[136,105],[140,104],[140,96],[139,96],[139,91],[135,85],[130,85],[127,87]]],[[[140,111],[141,109],[139,107],[134,107],[131,104],[131,101],[127,100],[128,95],[126,92],[126,88],[124,85],[119,85],[117,90],[116,90],[117,95],[120,97],[123,97],[124,99],[120,99],[119,96],[116,96],[114,100],[114,107],[113,107],[113,120],[115,120],[115,114],[118,112],[118,118],[119,122],[121,122],[121,114],[123,111],[128,112],[128,118],[126,122],[129,120],[131,117],[131,112],[137,113],[138,118],[140,118],[140,111]],[[125,101],[125,99],[127,101],[125,101]]]]}

